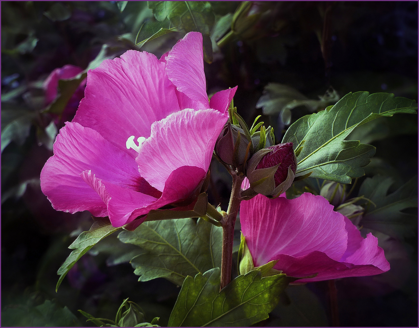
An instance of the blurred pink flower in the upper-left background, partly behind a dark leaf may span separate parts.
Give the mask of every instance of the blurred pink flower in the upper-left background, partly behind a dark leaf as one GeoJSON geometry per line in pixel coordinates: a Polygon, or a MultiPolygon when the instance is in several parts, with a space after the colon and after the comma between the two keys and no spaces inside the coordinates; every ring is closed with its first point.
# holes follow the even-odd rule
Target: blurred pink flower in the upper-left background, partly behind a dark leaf
{"type": "MultiPolygon", "coordinates": [[[[70,79],[78,75],[80,72],[83,72],[83,69],[74,65],[64,65],[61,68],[56,68],[53,70],[44,81],[43,85],[45,90],[45,105],[48,106],[54,101],[55,97],[57,97],[59,80],[70,79]]],[[[79,87],[75,90],[74,94],[68,101],[67,106],[64,108],[62,113],[61,122],[72,119],[75,112],[77,111],[80,100],[82,100],[84,97],[85,87],[86,79],[80,83],[79,87]]]]}

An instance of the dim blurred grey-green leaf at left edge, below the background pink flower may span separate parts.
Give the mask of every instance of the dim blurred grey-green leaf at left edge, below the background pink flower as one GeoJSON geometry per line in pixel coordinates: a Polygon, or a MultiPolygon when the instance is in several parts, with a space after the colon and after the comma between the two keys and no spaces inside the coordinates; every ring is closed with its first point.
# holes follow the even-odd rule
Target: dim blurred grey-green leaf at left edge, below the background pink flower
{"type": "Polygon", "coordinates": [[[23,145],[31,130],[36,113],[12,103],[2,103],[1,111],[1,151],[10,142],[23,145]]]}

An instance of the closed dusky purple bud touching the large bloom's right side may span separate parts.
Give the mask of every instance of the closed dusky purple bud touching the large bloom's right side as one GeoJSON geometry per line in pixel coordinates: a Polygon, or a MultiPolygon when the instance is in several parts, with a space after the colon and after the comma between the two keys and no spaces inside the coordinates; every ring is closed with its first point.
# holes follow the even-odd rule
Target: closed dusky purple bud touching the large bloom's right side
{"type": "Polygon", "coordinates": [[[246,158],[248,144],[249,141],[243,129],[228,123],[217,139],[215,150],[224,163],[238,166],[248,159],[248,155],[246,158]]]}

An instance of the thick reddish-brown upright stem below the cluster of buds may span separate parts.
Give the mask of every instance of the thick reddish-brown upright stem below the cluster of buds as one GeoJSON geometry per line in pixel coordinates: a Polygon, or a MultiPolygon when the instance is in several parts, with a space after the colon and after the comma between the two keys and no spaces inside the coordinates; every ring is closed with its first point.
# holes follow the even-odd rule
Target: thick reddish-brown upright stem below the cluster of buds
{"type": "Polygon", "coordinates": [[[241,183],[244,176],[233,175],[233,188],[231,190],[230,203],[228,204],[227,215],[222,220],[222,255],[221,255],[221,285],[224,288],[231,281],[231,266],[233,264],[233,237],[234,225],[237,213],[240,208],[241,183]]]}

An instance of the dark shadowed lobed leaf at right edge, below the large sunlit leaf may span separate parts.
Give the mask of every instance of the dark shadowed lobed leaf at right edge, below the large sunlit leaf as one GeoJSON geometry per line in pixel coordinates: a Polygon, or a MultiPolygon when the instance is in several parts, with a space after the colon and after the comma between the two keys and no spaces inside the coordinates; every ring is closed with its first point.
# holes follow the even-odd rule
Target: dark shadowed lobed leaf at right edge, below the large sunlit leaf
{"type": "Polygon", "coordinates": [[[396,238],[412,236],[417,231],[417,215],[402,211],[417,207],[417,177],[388,194],[392,184],[392,178],[380,175],[365,179],[359,195],[370,199],[375,206],[367,205],[360,224],[396,238]]]}

